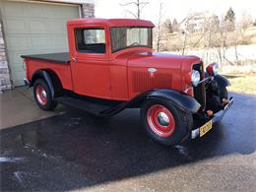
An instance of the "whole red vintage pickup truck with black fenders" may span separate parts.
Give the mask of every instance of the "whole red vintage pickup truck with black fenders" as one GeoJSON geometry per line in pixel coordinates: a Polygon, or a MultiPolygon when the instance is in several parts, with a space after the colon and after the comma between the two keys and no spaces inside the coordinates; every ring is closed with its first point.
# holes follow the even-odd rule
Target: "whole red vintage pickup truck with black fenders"
{"type": "Polygon", "coordinates": [[[204,136],[233,98],[217,63],[153,52],[149,21],[76,19],[67,23],[69,52],[22,55],[26,84],[43,110],[67,104],[109,117],[141,108],[151,138],[173,146],[204,136]]]}

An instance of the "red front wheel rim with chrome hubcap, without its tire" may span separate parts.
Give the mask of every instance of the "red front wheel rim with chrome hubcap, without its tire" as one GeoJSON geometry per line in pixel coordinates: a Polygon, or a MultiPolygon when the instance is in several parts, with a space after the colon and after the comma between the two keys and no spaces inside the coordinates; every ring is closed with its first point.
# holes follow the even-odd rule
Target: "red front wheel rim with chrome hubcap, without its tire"
{"type": "Polygon", "coordinates": [[[154,133],[162,138],[173,134],[175,120],[171,112],[160,104],[152,105],[147,112],[147,120],[154,133]]]}

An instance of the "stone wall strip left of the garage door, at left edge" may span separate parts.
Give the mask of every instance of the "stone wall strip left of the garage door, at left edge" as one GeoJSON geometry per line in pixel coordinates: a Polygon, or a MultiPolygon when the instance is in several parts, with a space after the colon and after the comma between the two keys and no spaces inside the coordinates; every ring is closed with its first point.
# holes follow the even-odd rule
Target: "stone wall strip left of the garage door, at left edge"
{"type": "Polygon", "coordinates": [[[0,21],[0,93],[11,89],[10,72],[7,64],[5,42],[0,21]]]}

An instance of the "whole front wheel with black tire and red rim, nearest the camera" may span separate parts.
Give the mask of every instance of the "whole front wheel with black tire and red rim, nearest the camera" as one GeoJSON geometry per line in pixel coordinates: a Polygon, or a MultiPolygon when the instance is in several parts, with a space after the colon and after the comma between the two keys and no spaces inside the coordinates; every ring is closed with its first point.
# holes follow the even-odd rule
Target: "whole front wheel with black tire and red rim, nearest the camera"
{"type": "Polygon", "coordinates": [[[192,113],[164,99],[146,100],[141,108],[141,120],[149,136],[166,146],[177,145],[189,137],[193,125],[192,113]]]}

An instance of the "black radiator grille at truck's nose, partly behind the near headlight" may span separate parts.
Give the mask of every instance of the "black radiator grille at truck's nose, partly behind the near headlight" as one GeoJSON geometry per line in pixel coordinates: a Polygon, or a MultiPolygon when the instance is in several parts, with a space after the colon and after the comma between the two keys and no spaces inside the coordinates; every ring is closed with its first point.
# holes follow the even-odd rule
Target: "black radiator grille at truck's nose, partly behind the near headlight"
{"type": "MultiPolygon", "coordinates": [[[[193,65],[193,69],[196,71],[199,71],[200,80],[203,80],[205,78],[203,63],[198,63],[193,65]]],[[[199,84],[197,87],[194,87],[193,91],[194,91],[194,97],[196,98],[196,100],[201,104],[202,108],[205,108],[205,104],[206,104],[205,83],[203,82],[199,84]]]]}

